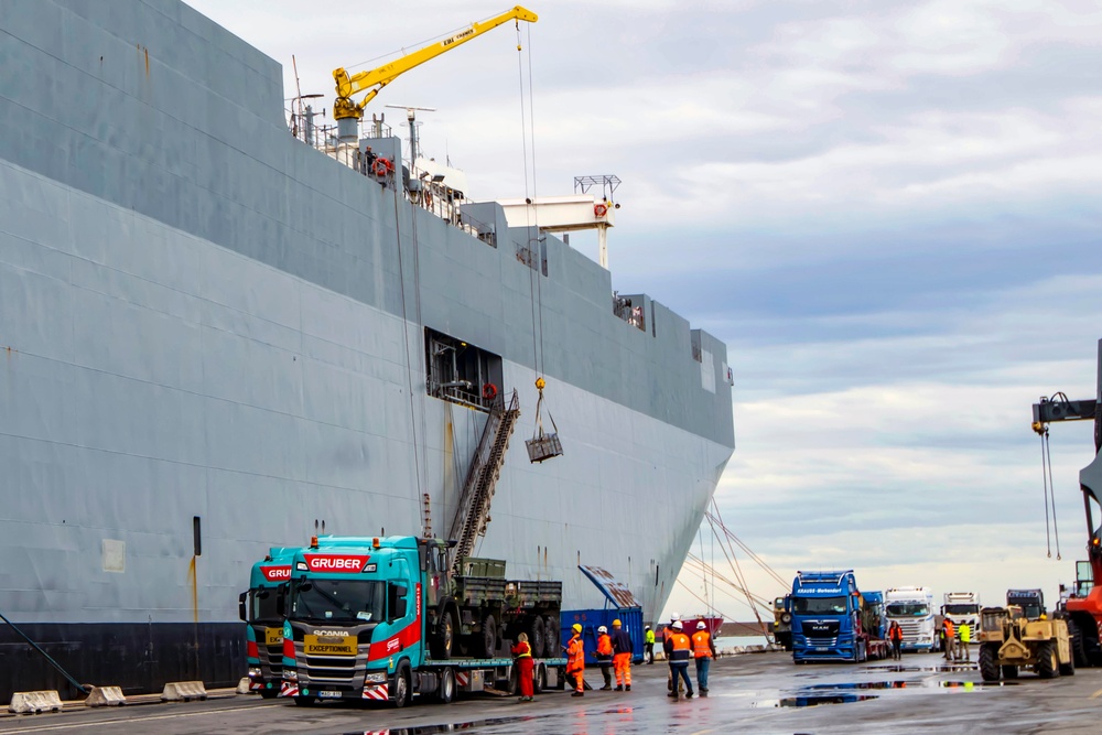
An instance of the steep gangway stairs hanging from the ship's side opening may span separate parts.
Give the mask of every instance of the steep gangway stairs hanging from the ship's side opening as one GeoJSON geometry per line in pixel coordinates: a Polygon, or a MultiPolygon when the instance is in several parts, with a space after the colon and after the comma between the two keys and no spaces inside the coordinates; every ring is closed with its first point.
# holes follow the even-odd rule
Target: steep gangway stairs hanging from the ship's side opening
{"type": "Polygon", "coordinates": [[[455,518],[447,529],[447,538],[455,539],[454,571],[458,573],[461,560],[468,556],[475,547],[475,538],[486,534],[489,522],[489,504],[494,488],[505,463],[505,451],[509,448],[509,436],[520,417],[520,397],[512,391],[509,407],[504,399],[494,403],[483,429],[478,448],[475,451],[467,479],[463,484],[460,505],[455,518]]]}

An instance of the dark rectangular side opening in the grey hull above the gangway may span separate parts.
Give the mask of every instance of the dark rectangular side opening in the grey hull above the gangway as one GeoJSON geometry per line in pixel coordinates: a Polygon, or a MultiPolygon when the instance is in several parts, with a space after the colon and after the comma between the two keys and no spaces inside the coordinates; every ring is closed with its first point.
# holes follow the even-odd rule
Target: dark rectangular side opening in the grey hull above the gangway
{"type": "Polygon", "coordinates": [[[430,396],[483,411],[503,400],[498,355],[429,328],[424,344],[430,396]]]}

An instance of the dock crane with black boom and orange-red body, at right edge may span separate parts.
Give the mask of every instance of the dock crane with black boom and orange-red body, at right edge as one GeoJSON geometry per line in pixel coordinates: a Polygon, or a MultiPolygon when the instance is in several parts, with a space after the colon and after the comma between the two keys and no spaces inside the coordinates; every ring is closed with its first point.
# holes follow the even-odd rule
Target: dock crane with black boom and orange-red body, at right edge
{"type": "Polygon", "coordinates": [[[1072,401],[1063,393],[1041,398],[1033,407],[1033,429],[1042,439],[1056,421],[1094,421],[1094,461],[1079,473],[1087,515],[1087,556],[1092,573],[1085,597],[1073,596],[1057,614],[1067,618],[1076,666],[1102,666],[1102,527],[1095,528],[1092,501],[1102,507],[1102,339],[1099,341],[1098,388],[1094,399],[1072,401]]]}

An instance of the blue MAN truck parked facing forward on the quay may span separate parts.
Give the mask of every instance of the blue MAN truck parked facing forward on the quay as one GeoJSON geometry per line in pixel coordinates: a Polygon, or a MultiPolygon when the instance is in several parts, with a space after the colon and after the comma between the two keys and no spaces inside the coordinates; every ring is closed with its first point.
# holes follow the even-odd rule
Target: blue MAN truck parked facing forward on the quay
{"type": "Polygon", "coordinates": [[[884,595],[862,593],[853,570],[797,572],[789,605],[796,663],[856,663],[887,655],[884,595]]]}

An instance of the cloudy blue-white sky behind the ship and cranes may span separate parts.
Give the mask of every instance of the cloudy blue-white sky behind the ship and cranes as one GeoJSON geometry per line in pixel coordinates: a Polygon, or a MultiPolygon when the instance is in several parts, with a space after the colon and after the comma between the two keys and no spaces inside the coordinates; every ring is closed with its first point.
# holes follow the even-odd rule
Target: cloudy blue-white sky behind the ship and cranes
{"type": "MultiPolygon", "coordinates": [[[[377,66],[508,7],[190,4],[283,64],[288,90],[294,55],[322,107],[332,69],[377,66]]],[[[1030,406],[1096,389],[1102,3],[531,8],[521,53],[501,26],[371,107],[402,136],[404,114],[385,105],[436,108],[419,118],[424,150],[465,169],[475,198],[619,176],[614,288],[727,344],[738,448],[716,499],[728,527],[786,579],[844,566],[866,588],[977,590],[995,604],[1040,586],[1055,601],[1083,558],[1091,428],[1052,429],[1058,562],[1030,406]]],[[[593,241],[572,244],[595,257],[593,241]]],[[[784,593],[744,571],[758,594],[784,593]]],[[[716,606],[749,617],[722,586],[716,606]]],[[[679,590],[671,609],[701,604],[679,590]]]]}

